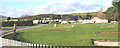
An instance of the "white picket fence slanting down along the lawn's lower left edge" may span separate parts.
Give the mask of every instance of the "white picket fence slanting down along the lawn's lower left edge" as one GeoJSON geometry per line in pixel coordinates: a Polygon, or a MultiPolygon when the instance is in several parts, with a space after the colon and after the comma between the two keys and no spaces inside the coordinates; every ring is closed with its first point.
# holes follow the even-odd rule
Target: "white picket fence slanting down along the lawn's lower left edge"
{"type": "Polygon", "coordinates": [[[52,45],[43,45],[43,44],[31,44],[21,41],[15,41],[10,39],[2,39],[2,48],[70,48],[65,46],[52,46],[52,45]]]}

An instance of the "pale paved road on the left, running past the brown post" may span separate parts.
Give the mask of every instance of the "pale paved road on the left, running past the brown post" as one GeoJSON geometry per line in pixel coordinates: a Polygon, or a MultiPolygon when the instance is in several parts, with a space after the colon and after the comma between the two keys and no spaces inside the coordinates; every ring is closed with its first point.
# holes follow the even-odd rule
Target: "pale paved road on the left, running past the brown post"
{"type": "MultiPolygon", "coordinates": [[[[41,27],[41,26],[45,26],[45,25],[48,25],[48,24],[40,24],[40,25],[37,25],[37,26],[30,26],[30,27],[26,27],[26,28],[19,28],[19,29],[16,29],[16,31],[18,32],[18,31],[31,29],[31,28],[36,28],[36,27],[41,27]]],[[[11,34],[11,33],[13,33],[13,30],[1,30],[0,37],[3,37],[5,35],[11,34]]]]}

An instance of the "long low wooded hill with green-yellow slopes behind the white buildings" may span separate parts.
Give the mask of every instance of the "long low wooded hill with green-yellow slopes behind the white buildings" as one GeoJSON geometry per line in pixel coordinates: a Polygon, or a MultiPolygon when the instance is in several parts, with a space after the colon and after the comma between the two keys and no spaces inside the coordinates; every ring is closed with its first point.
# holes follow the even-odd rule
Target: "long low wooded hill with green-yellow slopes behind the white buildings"
{"type": "Polygon", "coordinates": [[[67,16],[76,16],[75,18],[77,18],[77,16],[82,16],[83,18],[86,18],[87,15],[90,15],[92,17],[96,16],[96,12],[92,12],[92,13],[73,13],[73,14],[38,14],[38,15],[25,15],[22,17],[19,17],[20,20],[35,20],[35,19],[41,19],[41,18],[61,18],[61,16],[63,18],[66,18],[67,16]]]}

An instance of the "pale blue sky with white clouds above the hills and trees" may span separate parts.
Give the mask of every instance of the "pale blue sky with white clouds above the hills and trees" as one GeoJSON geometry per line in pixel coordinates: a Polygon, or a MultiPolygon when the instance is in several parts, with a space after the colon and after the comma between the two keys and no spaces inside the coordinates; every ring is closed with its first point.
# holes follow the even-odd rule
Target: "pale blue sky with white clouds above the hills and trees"
{"type": "Polygon", "coordinates": [[[0,0],[0,14],[10,17],[106,11],[112,0],[0,0]]]}

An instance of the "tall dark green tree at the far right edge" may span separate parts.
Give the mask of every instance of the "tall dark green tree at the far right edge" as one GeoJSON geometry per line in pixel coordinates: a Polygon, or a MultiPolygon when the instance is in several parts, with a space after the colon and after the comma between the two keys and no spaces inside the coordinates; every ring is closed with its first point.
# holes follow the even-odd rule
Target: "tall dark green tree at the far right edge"
{"type": "Polygon", "coordinates": [[[113,2],[112,5],[113,7],[108,8],[107,11],[105,12],[106,19],[108,19],[109,21],[111,20],[120,21],[120,1],[113,2]]]}

